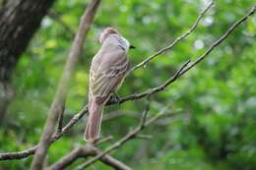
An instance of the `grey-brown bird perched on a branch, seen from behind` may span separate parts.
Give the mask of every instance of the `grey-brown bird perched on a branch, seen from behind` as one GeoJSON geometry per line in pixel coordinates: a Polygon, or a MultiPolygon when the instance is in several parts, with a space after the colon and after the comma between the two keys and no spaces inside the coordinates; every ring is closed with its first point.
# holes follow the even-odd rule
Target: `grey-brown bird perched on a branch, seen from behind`
{"type": "Polygon", "coordinates": [[[99,139],[104,105],[110,95],[122,85],[128,73],[129,49],[135,48],[116,28],[104,28],[98,37],[100,49],[94,56],[89,79],[88,123],[84,134],[86,142],[99,139]]]}

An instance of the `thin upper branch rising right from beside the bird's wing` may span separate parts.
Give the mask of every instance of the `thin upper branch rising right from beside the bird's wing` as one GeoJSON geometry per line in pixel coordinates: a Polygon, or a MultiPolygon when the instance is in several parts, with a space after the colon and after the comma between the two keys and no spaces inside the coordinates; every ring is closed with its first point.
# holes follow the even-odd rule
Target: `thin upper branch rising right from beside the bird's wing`
{"type": "Polygon", "coordinates": [[[194,22],[194,24],[183,34],[181,34],[180,36],[178,36],[173,42],[171,42],[168,46],[161,48],[158,52],[156,52],[155,54],[151,55],[150,57],[148,57],[147,59],[145,59],[144,61],[142,61],[141,63],[137,64],[136,66],[134,66],[131,70],[130,73],[147,65],[150,61],[152,61],[153,59],[155,59],[156,57],[158,57],[160,54],[165,53],[166,51],[172,49],[179,41],[185,39],[192,31],[194,31],[199,22],[201,21],[201,19],[205,16],[205,14],[208,12],[208,10],[214,5],[214,0],[212,0],[207,7],[200,13],[200,15],[197,17],[196,21],[194,22]]]}

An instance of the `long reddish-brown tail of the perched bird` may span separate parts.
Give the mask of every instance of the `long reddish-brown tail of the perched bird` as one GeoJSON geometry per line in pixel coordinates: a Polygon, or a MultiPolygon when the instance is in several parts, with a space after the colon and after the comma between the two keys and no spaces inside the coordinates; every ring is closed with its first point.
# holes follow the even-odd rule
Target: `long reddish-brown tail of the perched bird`
{"type": "Polygon", "coordinates": [[[96,104],[95,101],[90,105],[87,128],[84,134],[86,142],[95,142],[98,139],[103,105],[96,104]]]}

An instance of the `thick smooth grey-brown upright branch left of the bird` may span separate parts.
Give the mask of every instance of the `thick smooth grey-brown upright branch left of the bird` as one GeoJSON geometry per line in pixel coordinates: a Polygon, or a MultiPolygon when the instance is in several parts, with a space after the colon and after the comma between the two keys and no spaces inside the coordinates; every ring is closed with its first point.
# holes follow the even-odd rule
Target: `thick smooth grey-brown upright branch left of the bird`
{"type": "Polygon", "coordinates": [[[75,64],[78,60],[78,57],[82,53],[83,44],[85,41],[85,36],[87,35],[91,24],[96,15],[96,9],[99,5],[100,0],[92,0],[88,5],[84,15],[81,18],[81,23],[79,30],[76,34],[76,37],[73,41],[64,71],[61,80],[51,104],[51,107],[48,111],[48,117],[46,124],[43,129],[43,133],[40,137],[40,142],[36,149],[35,155],[32,159],[32,170],[42,169],[42,162],[47,153],[49,144],[51,143],[51,137],[54,133],[55,126],[58,119],[58,113],[61,113],[62,108],[65,105],[65,100],[68,92],[69,81],[72,77],[75,64]]]}

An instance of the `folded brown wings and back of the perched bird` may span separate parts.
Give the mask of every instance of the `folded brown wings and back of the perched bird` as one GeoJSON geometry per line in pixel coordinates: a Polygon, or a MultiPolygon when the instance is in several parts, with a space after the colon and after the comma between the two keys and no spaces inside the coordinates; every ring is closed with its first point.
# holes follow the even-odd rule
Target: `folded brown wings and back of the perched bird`
{"type": "Polygon", "coordinates": [[[99,54],[90,70],[90,97],[95,98],[97,104],[105,102],[124,79],[128,66],[123,50],[99,54]]]}

